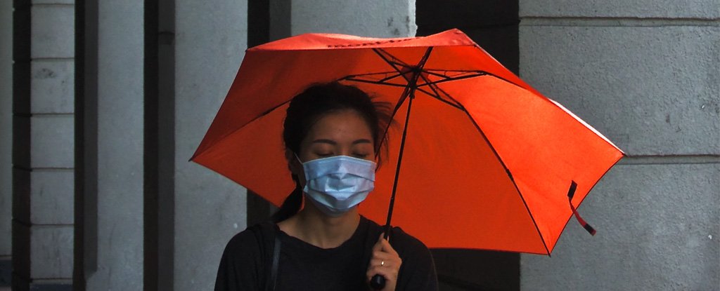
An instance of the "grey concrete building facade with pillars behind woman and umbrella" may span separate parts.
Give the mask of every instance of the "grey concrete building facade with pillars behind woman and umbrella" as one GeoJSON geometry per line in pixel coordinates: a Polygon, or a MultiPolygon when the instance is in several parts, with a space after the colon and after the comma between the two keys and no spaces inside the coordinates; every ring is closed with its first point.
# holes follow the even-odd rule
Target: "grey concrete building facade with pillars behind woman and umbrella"
{"type": "Polygon", "coordinates": [[[720,286],[720,0],[0,3],[0,289],[211,290],[271,212],[187,160],[247,47],[457,27],[628,157],[552,257],[433,251],[442,290],[720,286]],[[469,3],[482,2],[482,3],[469,3]]]}

